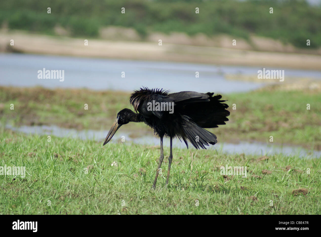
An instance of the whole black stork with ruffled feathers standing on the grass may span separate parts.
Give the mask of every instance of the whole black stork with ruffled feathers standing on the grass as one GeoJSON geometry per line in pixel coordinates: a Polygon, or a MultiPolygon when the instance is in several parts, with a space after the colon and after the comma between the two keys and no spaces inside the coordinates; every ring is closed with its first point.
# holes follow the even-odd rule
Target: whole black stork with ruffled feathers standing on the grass
{"type": "Polygon", "coordinates": [[[172,139],[183,139],[187,148],[187,139],[196,149],[206,149],[209,144],[217,143],[215,134],[204,128],[218,127],[225,124],[230,112],[229,106],[220,100],[221,95],[214,93],[199,93],[194,91],[182,91],[169,94],[163,89],[148,89],[146,87],[134,91],[129,100],[134,107],[120,110],[116,121],[110,128],[103,145],[106,145],[123,124],[129,122],[144,122],[154,129],[154,133],[160,136],[160,159],[153,188],[156,187],[158,172],[164,159],[163,137],[170,138],[170,152],[168,157],[168,171],[166,185],[169,180],[170,165],[172,162],[172,139]]]}

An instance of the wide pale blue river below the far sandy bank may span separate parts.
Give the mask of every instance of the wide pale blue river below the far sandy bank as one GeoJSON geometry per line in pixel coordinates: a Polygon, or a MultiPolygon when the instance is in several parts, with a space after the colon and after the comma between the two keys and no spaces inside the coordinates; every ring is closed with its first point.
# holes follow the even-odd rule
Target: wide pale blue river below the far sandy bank
{"type": "MultiPolygon", "coordinates": [[[[146,86],[172,92],[246,92],[264,83],[230,81],[224,74],[257,75],[259,67],[218,66],[176,62],[133,61],[102,58],[0,54],[0,85],[46,88],[89,88],[133,91],[146,86]],[[38,79],[38,70],[65,70],[59,79],[38,79]],[[199,78],[195,78],[195,72],[199,78]],[[125,72],[125,78],[121,73],[125,72]]],[[[283,69],[284,68],[266,68],[283,69]]],[[[321,79],[320,71],[285,69],[285,76],[321,79]]]]}

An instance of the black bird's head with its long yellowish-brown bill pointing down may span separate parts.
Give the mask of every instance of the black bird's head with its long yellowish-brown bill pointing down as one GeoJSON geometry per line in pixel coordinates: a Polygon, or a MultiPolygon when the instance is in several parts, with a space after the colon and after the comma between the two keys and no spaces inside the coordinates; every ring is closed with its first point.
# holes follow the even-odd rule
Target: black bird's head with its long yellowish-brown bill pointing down
{"type": "Polygon", "coordinates": [[[129,122],[135,121],[136,117],[137,117],[137,114],[130,109],[120,110],[117,113],[117,118],[114,124],[111,126],[103,145],[107,144],[110,141],[110,139],[114,136],[114,134],[117,132],[120,126],[122,126],[123,124],[127,124],[129,122]]]}

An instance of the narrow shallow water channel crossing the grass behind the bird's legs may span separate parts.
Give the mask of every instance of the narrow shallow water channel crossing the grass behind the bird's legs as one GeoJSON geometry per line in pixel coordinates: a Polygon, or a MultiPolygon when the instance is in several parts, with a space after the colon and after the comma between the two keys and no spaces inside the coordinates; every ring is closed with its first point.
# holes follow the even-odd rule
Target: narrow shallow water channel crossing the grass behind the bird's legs
{"type": "MultiPolygon", "coordinates": [[[[61,128],[57,126],[21,126],[13,127],[7,125],[6,128],[13,131],[19,131],[26,134],[38,134],[38,135],[50,135],[58,137],[75,137],[83,140],[96,140],[100,141],[101,145],[108,134],[108,130],[82,130],[77,131],[75,129],[61,128]]],[[[121,137],[125,136],[126,144],[136,143],[142,145],[160,145],[160,140],[156,136],[144,136],[138,138],[130,138],[129,133],[119,129],[114,135],[110,143],[120,142],[121,137]],[[129,143],[127,143],[129,142],[129,143]]],[[[108,143],[109,144],[109,143],[108,143]]],[[[164,139],[164,146],[169,146],[169,139],[164,139]]],[[[178,139],[173,140],[174,147],[186,147],[185,143],[180,142],[178,139]]],[[[189,149],[195,150],[195,148],[189,145],[189,149]]],[[[240,142],[239,144],[230,143],[218,143],[214,146],[210,146],[209,150],[219,150],[223,153],[229,154],[255,154],[255,155],[271,155],[271,154],[284,154],[284,155],[299,155],[302,158],[320,158],[321,151],[307,151],[300,147],[293,146],[278,146],[278,145],[268,145],[265,143],[249,143],[240,142]]]]}

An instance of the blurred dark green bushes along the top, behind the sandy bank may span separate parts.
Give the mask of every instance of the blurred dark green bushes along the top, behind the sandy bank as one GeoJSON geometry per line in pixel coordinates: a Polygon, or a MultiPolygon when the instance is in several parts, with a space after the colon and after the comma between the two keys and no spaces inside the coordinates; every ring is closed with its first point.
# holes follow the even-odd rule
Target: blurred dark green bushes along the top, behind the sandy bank
{"type": "Polygon", "coordinates": [[[307,39],[311,48],[321,45],[321,7],[299,0],[15,0],[2,2],[0,24],[3,22],[10,29],[47,34],[54,34],[54,26],[61,25],[75,37],[97,37],[100,27],[114,25],[134,28],[142,37],[160,31],[209,36],[226,33],[249,39],[254,33],[300,48],[306,46],[307,39]],[[122,7],[125,14],[121,14],[122,7]],[[199,14],[195,7],[199,7],[199,14]]]}

